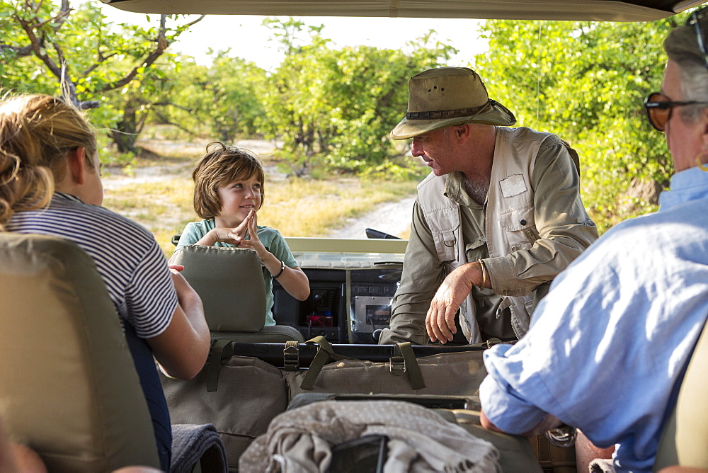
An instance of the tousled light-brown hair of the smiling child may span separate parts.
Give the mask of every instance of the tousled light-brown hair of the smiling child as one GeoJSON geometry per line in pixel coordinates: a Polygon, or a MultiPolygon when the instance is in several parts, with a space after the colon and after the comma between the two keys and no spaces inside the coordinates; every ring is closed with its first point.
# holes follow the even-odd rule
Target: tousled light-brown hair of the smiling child
{"type": "Polygon", "coordinates": [[[192,171],[194,211],[205,220],[218,217],[222,210],[219,188],[253,176],[261,181],[261,207],[263,207],[265,173],[261,160],[246,149],[228,146],[220,141],[207,144],[207,153],[202,156],[192,171]]]}

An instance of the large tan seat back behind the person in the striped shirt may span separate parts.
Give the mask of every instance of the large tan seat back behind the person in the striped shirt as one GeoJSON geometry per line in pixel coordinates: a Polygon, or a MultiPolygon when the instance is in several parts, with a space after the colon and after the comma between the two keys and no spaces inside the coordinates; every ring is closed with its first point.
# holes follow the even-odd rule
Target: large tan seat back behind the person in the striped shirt
{"type": "Polygon", "coordinates": [[[52,472],[159,467],[118,314],[71,241],[0,233],[0,416],[52,472]]]}

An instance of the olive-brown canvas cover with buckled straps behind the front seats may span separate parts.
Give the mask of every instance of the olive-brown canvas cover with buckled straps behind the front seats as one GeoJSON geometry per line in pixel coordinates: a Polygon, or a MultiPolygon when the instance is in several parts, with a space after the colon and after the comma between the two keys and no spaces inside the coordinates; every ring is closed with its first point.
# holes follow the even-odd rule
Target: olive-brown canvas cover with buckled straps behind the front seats
{"type": "Polygon", "coordinates": [[[484,348],[215,340],[193,380],[161,382],[171,422],[213,423],[236,471],[241,453],[300,392],[472,396],[486,375],[484,348]]]}

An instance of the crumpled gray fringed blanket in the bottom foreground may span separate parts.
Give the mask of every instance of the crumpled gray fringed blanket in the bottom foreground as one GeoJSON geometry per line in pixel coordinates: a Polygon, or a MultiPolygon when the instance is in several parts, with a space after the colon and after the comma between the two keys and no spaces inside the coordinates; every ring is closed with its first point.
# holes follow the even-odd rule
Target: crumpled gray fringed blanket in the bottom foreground
{"type": "Polygon", "coordinates": [[[326,472],[331,448],[365,435],[386,435],[384,473],[500,472],[486,440],[430,409],[401,401],[321,401],[285,411],[239,458],[239,472],[326,472]]]}

